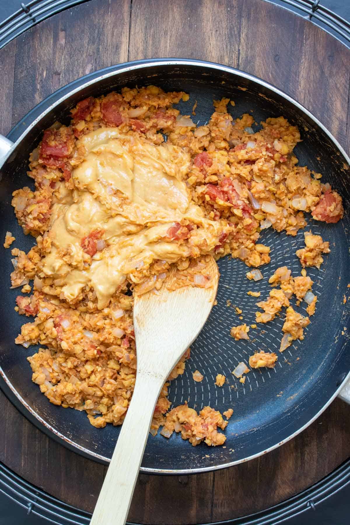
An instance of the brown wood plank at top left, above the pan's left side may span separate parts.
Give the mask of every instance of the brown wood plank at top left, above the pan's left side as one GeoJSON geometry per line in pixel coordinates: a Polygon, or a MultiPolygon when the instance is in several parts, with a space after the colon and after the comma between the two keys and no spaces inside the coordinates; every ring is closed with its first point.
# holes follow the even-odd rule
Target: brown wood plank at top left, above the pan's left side
{"type": "Polygon", "coordinates": [[[130,2],[87,2],[17,39],[13,124],[68,82],[128,60],[130,2]]]}

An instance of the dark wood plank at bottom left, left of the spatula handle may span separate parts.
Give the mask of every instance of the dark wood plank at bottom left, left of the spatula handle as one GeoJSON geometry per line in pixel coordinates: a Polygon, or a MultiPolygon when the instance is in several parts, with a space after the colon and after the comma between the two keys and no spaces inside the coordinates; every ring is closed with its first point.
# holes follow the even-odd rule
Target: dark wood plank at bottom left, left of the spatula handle
{"type": "Polygon", "coordinates": [[[103,465],[48,438],[2,392],[0,404],[0,461],[52,496],[92,511],[102,485],[103,465]]]}

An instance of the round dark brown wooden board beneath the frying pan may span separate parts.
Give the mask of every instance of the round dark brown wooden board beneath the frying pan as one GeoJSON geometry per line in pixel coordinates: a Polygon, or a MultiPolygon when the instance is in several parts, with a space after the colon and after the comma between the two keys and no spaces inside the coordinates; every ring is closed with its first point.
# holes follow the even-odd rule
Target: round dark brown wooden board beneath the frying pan
{"type": "MultiPolygon", "coordinates": [[[[350,150],[350,50],[263,0],[90,0],[0,51],[0,133],[73,79],[128,60],[221,62],[299,100],[350,150]]],[[[92,511],[107,467],[41,433],[0,392],[0,460],[51,495],[92,511]]],[[[309,428],[248,463],[194,476],[140,475],[129,519],[208,523],[283,501],[350,456],[350,409],[334,401],[309,428]]]]}

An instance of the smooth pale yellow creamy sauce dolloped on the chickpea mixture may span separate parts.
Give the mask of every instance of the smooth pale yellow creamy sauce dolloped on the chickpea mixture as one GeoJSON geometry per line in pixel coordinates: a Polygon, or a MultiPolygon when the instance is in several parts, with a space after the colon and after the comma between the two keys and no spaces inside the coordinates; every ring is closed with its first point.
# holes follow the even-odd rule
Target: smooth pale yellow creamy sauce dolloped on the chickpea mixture
{"type": "Polygon", "coordinates": [[[67,301],[89,285],[102,309],[138,264],[197,255],[199,244],[200,253],[209,253],[230,231],[191,201],[184,182],[190,157],[182,148],[153,145],[118,128],[100,128],[78,142],[86,155],[72,172],[76,189],[55,194],[51,251],[43,264],[46,276],[63,278],[67,301]],[[186,244],[167,237],[184,219],[197,226],[186,244]],[[90,262],[81,241],[95,230],[102,230],[105,246],[90,262]]]}

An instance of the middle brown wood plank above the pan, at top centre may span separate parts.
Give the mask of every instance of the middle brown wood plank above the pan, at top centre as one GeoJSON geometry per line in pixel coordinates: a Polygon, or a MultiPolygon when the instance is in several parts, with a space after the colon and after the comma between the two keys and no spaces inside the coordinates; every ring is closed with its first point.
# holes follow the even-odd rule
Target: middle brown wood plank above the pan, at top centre
{"type": "Polygon", "coordinates": [[[129,60],[184,57],[238,67],[240,9],[230,0],[133,0],[129,60]]]}

